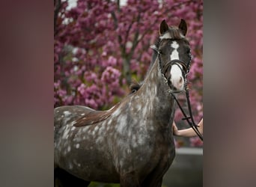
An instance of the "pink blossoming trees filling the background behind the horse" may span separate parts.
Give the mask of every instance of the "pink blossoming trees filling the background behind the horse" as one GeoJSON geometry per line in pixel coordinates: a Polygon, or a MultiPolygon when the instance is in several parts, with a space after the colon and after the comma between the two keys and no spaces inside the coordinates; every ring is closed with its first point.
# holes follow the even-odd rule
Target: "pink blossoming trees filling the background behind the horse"
{"type": "MultiPolygon", "coordinates": [[[[132,79],[144,79],[150,45],[162,19],[188,24],[192,67],[188,76],[195,120],[202,117],[202,1],[55,0],[54,105],[105,109],[127,94],[132,79]]],[[[183,99],[182,97],[180,99],[183,99]]],[[[177,111],[176,120],[180,120],[177,111]]]]}

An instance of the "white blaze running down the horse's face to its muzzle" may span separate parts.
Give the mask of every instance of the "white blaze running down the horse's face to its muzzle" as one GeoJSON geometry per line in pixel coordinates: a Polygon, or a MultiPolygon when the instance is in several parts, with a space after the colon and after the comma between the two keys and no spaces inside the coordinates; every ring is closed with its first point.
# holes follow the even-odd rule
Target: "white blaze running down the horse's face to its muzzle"
{"type": "MultiPolygon", "coordinates": [[[[179,60],[179,52],[177,51],[179,44],[176,41],[173,41],[171,43],[171,47],[174,48],[173,52],[171,52],[171,61],[179,60]]],[[[171,83],[174,85],[174,88],[177,88],[177,91],[182,91],[184,87],[184,80],[180,68],[182,68],[180,64],[174,64],[171,66],[171,83]]]]}

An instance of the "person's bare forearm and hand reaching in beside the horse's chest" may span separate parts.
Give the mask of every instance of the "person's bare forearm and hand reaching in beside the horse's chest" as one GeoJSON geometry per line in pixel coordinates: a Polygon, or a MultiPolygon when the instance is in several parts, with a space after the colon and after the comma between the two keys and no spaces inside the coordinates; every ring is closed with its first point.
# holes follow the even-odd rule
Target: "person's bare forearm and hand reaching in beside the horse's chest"
{"type": "MultiPolygon", "coordinates": [[[[188,129],[179,130],[177,129],[177,126],[174,122],[172,123],[172,127],[173,127],[172,129],[173,129],[174,135],[177,135],[177,136],[193,137],[197,135],[191,127],[188,129]]],[[[203,135],[203,118],[198,123],[198,131],[203,135]]]]}

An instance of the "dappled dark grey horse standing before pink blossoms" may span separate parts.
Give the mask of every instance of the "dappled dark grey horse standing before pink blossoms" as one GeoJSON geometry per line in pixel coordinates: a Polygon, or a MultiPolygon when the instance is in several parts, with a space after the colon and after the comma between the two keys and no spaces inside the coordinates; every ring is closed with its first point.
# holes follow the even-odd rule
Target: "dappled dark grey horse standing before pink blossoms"
{"type": "Polygon", "coordinates": [[[162,185],[175,156],[171,93],[183,91],[191,60],[186,29],[183,19],[178,27],[161,22],[143,84],[109,110],[55,108],[55,186],[162,185]]]}

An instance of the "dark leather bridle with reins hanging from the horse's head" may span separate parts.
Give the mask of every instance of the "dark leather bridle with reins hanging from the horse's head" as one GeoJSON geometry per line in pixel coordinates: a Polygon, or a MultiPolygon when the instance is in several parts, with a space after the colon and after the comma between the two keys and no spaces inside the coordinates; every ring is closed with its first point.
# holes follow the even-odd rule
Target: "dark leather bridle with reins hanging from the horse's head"
{"type": "Polygon", "coordinates": [[[174,60],[168,61],[165,64],[165,67],[162,67],[162,60],[161,60],[161,55],[162,54],[161,54],[161,52],[159,52],[159,49],[154,45],[150,46],[150,48],[154,49],[157,52],[157,58],[158,58],[158,61],[159,61],[159,69],[160,69],[160,72],[162,73],[162,78],[164,79],[164,82],[168,85],[168,87],[170,88],[169,93],[171,93],[171,96],[174,97],[174,100],[177,102],[177,105],[179,106],[180,111],[183,113],[184,117],[182,118],[182,120],[186,120],[187,123],[189,123],[189,126],[192,127],[192,129],[195,131],[195,133],[201,139],[201,141],[203,141],[203,135],[201,135],[201,133],[199,132],[198,126],[195,124],[194,118],[192,116],[192,110],[191,110],[190,99],[189,99],[189,89],[187,88],[187,85],[186,85],[186,83],[187,83],[186,82],[186,76],[189,73],[189,69],[190,69],[190,66],[191,66],[191,59],[192,59],[191,58],[191,53],[189,52],[189,62],[188,63],[186,63],[184,61],[181,61],[181,60],[178,60],[178,59],[174,59],[174,60]],[[177,64],[177,67],[179,67],[181,72],[183,73],[183,78],[185,80],[184,88],[185,88],[185,91],[186,91],[186,102],[187,102],[188,109],[189,109],[189,116],[186,115],[185,111],[183,110],[183,108],[180,105],[180,102],[178,102],[176,96],[174,95],[175,92],[171,90],[170,80],[166,79],[166,77],[165,77],[166,71],[169,69],[169,67],[171,67],[174,64],[177,64]],[[181,68],[180,65],[183,68],[181,68]]]}

